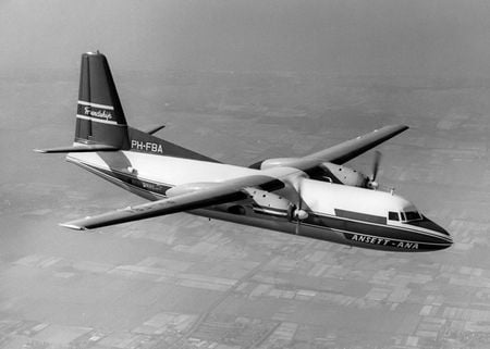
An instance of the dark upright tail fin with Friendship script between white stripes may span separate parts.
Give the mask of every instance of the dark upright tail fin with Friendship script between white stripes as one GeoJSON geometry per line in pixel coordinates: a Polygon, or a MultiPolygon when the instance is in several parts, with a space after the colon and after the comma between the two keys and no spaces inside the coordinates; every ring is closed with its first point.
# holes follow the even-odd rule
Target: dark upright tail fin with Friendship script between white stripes
{"type": "Polygon", "coordinates": [[[130,149],[126,119],[106,57],[82,54],[75,142],[130,149]]]}

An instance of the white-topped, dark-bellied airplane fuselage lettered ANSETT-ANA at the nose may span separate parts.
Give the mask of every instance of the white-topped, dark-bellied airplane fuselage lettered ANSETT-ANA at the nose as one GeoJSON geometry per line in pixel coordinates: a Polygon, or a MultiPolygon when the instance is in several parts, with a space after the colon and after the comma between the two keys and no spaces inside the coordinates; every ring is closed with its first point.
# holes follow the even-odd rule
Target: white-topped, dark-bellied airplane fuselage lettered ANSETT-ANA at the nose
{"type": "Polygon", "coordinates": [[[442,227],[400,196],[305,178],[295,169],[260,171],[137,151],[69,153],[66,159],[148,200],[164,198],[176,186],[257,173],[267,172],[281,180],[301,178],[295,183],[301,183],[307,217],[299,222],[299,229],[287,207],[298,201],[297,188],[293,187],[264,195],[257,189],[250,192],[250,199],[189,213],[369,249],[429,251],[452,245],[442,227]]]}

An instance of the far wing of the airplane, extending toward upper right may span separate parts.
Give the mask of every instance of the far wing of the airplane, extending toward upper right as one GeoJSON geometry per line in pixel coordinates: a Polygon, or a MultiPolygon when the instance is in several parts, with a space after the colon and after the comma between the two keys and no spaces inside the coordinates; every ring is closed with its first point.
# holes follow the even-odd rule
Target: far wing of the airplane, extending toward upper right
{"type": "Polygon", "coordinates": [[[270,159],[256,163],[250,167],[264,169],[262,164],[267,164],[266,167],[293,167],[310,174],[322,162],[332,162],[338,165],[343,164],[406,129],[408,129],[408,126],[405,125],[384,126],[382,128],[375,129],[369,134],[346,140],[336,146],[320,150],[303,158],[270,159]]]}

